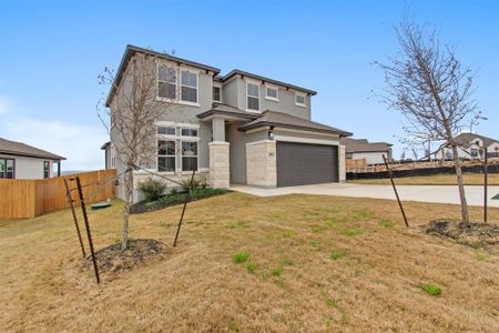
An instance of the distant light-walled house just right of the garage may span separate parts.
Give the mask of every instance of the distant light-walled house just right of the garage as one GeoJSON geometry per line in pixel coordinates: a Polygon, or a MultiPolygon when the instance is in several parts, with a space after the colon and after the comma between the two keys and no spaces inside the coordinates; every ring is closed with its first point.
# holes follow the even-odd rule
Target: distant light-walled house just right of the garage
{"type": "Polygon", "coordinates": [[[347,160],[365,159],[368,165],[384,163],[383,154],[391,160],[391,143],[387,142],[369,142],[367,139],[342,139],[342,144],[345,144],[347,160]]]}

